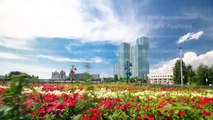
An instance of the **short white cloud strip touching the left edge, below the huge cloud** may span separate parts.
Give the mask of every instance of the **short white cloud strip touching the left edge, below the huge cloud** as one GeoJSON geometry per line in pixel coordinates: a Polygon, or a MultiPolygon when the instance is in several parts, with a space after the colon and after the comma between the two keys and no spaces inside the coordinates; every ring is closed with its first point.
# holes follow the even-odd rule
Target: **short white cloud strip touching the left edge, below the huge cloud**
{"type": "Polygon", "coordinates": [[[8,53],[8,52],[0,52],[0,58],[3,59],[25,59],[25,57],[13,54],[13,53],[8,53]]]}

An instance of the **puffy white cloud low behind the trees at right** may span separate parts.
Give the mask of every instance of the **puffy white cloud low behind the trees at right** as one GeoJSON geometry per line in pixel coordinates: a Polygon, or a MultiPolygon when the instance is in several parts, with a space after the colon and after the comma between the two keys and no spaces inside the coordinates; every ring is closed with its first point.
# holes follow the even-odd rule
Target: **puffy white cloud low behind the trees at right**
{"type": "MultiPolygon", "coordinates": [[[[172,74],[172,69],[178,59],[179,58],[175,58],[164,62],[160,67],[151,69],[150,74],[172,74]]],[[[201,55],[197,55],[194,52],[187,52],[183,56],[183,61],[186,65],[192,65],[194,69],[196,69],[200,64],[211,66],[213,65],[213,50],[201,55]]]]}

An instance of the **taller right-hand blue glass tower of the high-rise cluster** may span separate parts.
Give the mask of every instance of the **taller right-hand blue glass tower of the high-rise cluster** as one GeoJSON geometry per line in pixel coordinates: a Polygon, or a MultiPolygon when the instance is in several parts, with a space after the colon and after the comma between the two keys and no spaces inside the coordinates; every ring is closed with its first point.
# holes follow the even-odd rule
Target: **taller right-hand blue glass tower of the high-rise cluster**
{"type": "Polygon", "coordinates": [[[149,74],[149,39],[141,37],[131,46],[132,77],[146,78],[149,74]]]}

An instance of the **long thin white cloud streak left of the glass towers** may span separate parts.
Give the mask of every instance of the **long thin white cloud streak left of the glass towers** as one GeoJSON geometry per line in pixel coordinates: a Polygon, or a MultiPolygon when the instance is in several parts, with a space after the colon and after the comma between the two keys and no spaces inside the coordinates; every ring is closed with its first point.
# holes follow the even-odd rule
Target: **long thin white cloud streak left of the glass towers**
{"type": "Polygon", "coordinates": [[[60,57],[60,56],[51,56],[51,55],[38,55],[37,57],[39,58],[45,58],[51,61],[55,61],[55,62],[74,62],[74,63],[84,63],[84,62],[88,62],[88,63],[101,63],[103,62],[102,58],[99,57],[93,57],[90,60],[86,60],[86,59],[71,59],[71,58],[65,58],[65,57],[60,57]]]}

